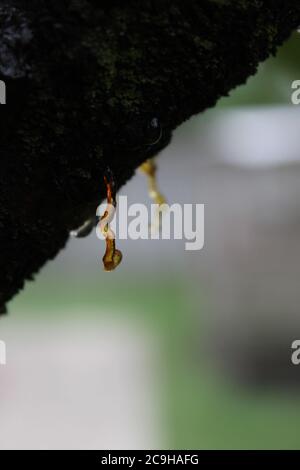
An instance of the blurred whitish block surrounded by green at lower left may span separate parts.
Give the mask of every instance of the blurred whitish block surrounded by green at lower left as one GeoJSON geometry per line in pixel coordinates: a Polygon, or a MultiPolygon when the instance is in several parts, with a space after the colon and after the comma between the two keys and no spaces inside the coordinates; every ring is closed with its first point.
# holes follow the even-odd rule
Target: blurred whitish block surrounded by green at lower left
{"type": "Polygon", "coordinates": [[[121,319],[93,321],[86,312],[79,321],[78,313],[51,322],[45,311],[45,321],[2,324],[0,449],[161,446],[152,338],[121,319]]]}

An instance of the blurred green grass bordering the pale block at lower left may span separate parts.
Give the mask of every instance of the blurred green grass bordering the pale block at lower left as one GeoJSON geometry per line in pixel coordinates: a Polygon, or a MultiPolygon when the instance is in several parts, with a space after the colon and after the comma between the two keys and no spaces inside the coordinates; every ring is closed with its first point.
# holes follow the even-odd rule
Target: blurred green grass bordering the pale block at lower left
{"type": "Polygon", "coordinates": [[[110,278],[79,282],[66,281],[28,285],[11,304],[14,321],[34,321],[42,312],[53,313],[59,325],[63,318],[55,315],[55,304],[67,315],[89,312],[101,318],[103,312],[122,319],[143,322],[163,345],[162,390],[167,419],[167,442],[170,449],[298,449],[300,400],[282,392],[253,393],[237,387],[218,374],[201,358],[200,345],[206,329],[201,327],[207,310],[205,293],[194,296],[180,273],[153,278],[145,274],[142,281],[132,277],[124,282],[110,278]],[[88,282],[87,282],[88,281],[88,282]],[[51,290],[51,292],[49,292],[51,290]],[[202,299],[202,300],[201,300],[202,299]],[[117,313],[119,312],[119,313],[117,313]]]}

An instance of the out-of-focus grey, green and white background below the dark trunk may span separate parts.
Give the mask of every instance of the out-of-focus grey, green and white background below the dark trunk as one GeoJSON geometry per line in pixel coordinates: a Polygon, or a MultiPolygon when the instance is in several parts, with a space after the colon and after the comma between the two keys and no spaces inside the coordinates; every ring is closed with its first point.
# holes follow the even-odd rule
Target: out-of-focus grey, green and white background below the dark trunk
{"type": "MultiPolygon", "coordinates": [[[[300,35],[159,156],[205,247],[71,240],[1,318],[1,449],[299,449],[300,35]]],[[[203,90],[205,93],[205,90],[203,90]]],[[[148,201],[139,173],[123,189],[148,201]]]]}

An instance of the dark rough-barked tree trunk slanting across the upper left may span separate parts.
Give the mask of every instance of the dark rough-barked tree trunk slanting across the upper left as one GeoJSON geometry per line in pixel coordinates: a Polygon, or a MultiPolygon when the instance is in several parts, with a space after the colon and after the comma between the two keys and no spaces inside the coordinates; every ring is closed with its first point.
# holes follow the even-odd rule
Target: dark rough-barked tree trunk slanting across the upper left
{"type": "Polygon", "coordinates": [[[107,166],[123,185],[298,24],[299,0],[0,0],[1,309],[95,213],[107,166]]]}

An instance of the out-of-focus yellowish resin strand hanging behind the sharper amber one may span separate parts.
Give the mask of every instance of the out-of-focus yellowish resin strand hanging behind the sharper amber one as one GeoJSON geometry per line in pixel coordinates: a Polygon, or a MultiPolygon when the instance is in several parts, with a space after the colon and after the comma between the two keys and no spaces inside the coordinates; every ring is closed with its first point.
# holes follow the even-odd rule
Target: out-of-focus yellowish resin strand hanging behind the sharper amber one
{"type": "Polygon", "coordinates": [[[155,214],[155,221],[152,223],[150,230],[152,233],[160,231],[160,215],[162,210],[165,208],[166,199],[158,189],[157,184],[157,166],[154,159],[146,160],[139,170],[145,174],[148,178],[148,190],[149,196],[158,205],[158,209],[155,214]]]}

